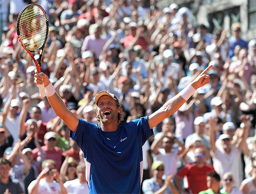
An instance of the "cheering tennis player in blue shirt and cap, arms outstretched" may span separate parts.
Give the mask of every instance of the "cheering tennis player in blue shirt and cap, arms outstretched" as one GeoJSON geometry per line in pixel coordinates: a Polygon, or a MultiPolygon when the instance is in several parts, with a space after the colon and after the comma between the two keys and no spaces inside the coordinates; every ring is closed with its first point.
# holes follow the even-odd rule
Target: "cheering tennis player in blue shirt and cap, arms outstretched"
{"type": "Polygon", "coordinates": [[[82,149],[90,193],[140,193],[142,145],[153,135],[154,126],[175,113],[197,88],[209,83],[210,76],[206,75],[209,69],[211,66],[152,115],[123,125],[119,125],[122,109],[114,94],[101,91],[95,96],[99,123],[95,125],[78,119],[66,108],[44,73],[35,70],[35,83],[44,84],[52,109],[63,119],[71,130],[70,137],[82,149]]]}

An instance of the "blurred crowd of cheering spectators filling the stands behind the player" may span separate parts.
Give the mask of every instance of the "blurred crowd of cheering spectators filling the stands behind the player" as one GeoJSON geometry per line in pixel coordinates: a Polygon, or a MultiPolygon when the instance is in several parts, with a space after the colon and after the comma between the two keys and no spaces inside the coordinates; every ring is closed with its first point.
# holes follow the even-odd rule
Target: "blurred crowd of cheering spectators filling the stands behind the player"
{"type": "Polygon", "coordinates": [[[256,40],[242,39],[239,23],[211,33],[187,7],[159,9],[156,0],[1,3],[10,12],[0,45],[0,194],[89,192],[83,152],[39,96],[36,67],[17,40],[17,14],[28,3],[49,16],[42,71],[88,122],[97,124],[101,90],[118,97],[129,122],[152,114],[213,65],[210,83],[142,147],[141,192],[255,194],[256,40]]]}

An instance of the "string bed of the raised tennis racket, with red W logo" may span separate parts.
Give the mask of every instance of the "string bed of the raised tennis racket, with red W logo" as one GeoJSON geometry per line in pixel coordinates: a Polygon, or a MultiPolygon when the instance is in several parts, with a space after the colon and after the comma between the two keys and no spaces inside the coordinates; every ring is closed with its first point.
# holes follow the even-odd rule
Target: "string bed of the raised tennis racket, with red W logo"
{"type": "Polygon", "coordinates": [[[19,29],[21,41],[28,50],[38,50],[45,42],[47,24],[43,11],[30,6],[21,14],[19,29]]]}

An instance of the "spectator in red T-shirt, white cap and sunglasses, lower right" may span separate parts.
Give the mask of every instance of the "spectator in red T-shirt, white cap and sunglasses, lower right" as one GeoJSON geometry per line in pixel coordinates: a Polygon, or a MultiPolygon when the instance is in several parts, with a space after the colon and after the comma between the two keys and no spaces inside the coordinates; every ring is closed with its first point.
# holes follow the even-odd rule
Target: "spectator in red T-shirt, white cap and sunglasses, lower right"
{"type": "Polygon", "coordinates": [[[183,193],[183,188],[180,183],[181,177],[187,177],[188,191],[193,194],[198,194],[201,191],[208,189],[206,177],[209,173],[215,172],[213,166],[206,162],[205,151],[203,148],[197,148],[194,151],[196,161],[188,163],[174,177],[174,181],[183,193]]]}

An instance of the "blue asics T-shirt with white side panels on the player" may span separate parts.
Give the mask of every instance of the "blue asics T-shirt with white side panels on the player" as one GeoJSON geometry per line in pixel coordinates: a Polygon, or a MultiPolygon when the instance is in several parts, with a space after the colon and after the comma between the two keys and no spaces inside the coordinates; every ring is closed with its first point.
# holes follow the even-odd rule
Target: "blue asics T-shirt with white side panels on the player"
{"type": "Polygon", "coordinates": [[[80,119],[70,137],[83,151],[90,193],[140,193],[142,145],[152,135],[148,117],[123,123],[112,132],[80,119]]]}

